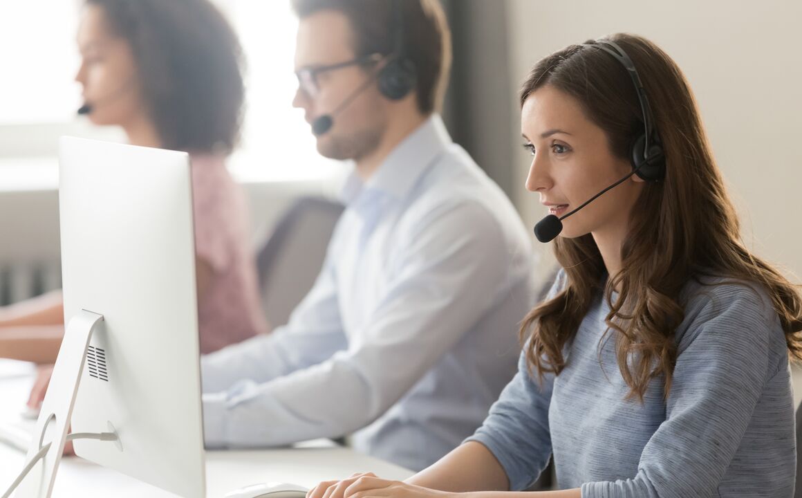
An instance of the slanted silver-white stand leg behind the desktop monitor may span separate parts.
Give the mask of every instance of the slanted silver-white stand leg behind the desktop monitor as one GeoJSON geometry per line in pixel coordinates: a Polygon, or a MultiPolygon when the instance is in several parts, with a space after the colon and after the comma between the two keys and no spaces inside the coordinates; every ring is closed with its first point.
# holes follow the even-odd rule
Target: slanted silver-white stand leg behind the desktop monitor
{"type": "Polygon", "coordinates": [[[48,443],[50,448],[20,483],[17,498],[50,498],[53,492],[89,340],[95,326],[102,321],[103,315],[81,310],[67,324],[47,395],[36,421],[34,435],[38,434],[38,439],[34,436],[31,441],[26,461],[34,459],[48,443]]]}

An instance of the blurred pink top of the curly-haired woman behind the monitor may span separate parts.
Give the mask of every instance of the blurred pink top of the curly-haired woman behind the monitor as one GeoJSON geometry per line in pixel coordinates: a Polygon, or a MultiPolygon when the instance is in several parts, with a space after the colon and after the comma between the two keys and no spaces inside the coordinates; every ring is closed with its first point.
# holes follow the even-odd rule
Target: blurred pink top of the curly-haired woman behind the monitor
{"type": "Polygon", "coordinates": [[[245,192],[223,156],[192,155],[195,253],[213,269],[198,297],[201,353],[207,354],[268,330],[250,243],[245,192]]]}

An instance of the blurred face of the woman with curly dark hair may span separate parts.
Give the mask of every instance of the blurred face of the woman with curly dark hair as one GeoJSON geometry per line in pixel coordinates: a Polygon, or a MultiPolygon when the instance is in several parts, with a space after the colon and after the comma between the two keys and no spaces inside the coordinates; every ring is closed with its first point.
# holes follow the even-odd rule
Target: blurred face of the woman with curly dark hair
{"type": "Polygon", "coordinates": [[[95,124],[125,126],[144,115],[144,99],[131,46],[108,25],[100,6],[83,8],[78,29],[81,66],[75,81],[83,87],[95,124]]]}

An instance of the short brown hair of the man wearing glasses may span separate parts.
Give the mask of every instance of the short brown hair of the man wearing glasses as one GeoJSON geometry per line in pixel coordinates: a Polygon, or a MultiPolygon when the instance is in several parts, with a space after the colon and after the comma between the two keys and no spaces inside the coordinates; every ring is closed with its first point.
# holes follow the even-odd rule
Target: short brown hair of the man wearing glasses
{"type": "Polygon", "coordinates": [[[418,109],[439,111],[451,68],[451,31],[438,0],[292,0],[299,18],[320,10],[345,14],[354,30],[357,56],[394,51],[392,2],[399,2],[407,59],[418,72],[418,109]]]}

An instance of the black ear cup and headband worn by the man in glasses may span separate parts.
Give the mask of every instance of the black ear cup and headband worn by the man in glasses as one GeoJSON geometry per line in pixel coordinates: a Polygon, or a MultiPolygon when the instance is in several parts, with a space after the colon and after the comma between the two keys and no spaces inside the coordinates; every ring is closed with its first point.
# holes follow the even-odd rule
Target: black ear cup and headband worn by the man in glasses
{"type": "Polygon", "coordinates": [[[401,1],[391,0],[390,32],[393,36],[393,51],[377,77],[379,91],[391,100],[403,99],[418,83],[418,71],[407,57],[404,43],[401,1]]]}

